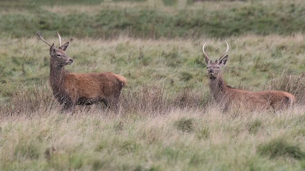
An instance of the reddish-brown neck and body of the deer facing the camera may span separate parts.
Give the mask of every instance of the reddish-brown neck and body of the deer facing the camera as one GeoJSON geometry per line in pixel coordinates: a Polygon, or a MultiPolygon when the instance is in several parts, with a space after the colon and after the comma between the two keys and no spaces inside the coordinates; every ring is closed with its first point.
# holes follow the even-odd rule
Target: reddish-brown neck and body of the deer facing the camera
{"type": "Polygon", "coordinates": [[[223,107],[224,110],[231,106],[240,106],[250,109],[282,109],[291,107],[295,103],[294,95],[279,91],[247,91],[233,88],[226,85],[219,75],[218,78],[209,79],[211,93],[216,100],[223,107]]]}

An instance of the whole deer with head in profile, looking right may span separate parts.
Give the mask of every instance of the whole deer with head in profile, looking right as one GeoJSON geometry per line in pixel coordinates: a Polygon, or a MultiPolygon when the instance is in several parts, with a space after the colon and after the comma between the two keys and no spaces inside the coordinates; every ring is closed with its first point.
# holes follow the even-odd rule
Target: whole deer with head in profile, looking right
{"type": "Polygon", "coordinates": [[[92,105],[103,102],[107,107],[117,108],[122,88],[126,79],[111,72],[99,73],[69,73],[64,69],[65,65],[72,64],[73,60],[67,56],[66,49],[69,42],[59,46],[50,45],[39,32],[37,36],[50,46],[50,85],[53,97],[63,105],[64,110],[71,110],[76,105],[92,105]]]}

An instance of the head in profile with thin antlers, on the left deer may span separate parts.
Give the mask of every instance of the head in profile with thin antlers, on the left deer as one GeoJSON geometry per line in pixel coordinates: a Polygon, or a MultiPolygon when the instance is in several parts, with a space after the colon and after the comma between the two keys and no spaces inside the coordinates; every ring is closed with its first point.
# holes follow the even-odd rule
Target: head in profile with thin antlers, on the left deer
{"type": "Polygon", "coordinates": [[[67,49],[69,42],[65,43],[64,45],[61,45],[61,37],[59,35],[59,33],[57,33],[55,31],[55,33],[58,36],[59,39],[59,46],[55,47],[54,43],[52,43],[52,45],[50,45],[49,43],[47,43],[47,41],[45,41],[39,31],[37,31],[37,36],[40,40],[42,40],[44,43],[47,43],[50,46],[50,50],[49,50],[49,54],[50,54],[50,63],[53,64],[54,66],[64,66],[67,64],[72,64],[73,60],[67,56],[65,50],[67,49]]]}

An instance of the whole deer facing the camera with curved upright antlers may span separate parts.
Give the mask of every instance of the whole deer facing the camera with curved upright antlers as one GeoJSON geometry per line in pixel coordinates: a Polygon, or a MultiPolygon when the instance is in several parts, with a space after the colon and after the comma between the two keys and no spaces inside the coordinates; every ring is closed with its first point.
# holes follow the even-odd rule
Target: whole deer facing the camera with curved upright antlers
{"type": "Polygon", "coordinates": [[[210,91],[224,111],[235,105],[242,105],[248,109],[272,109],[274,111],[291,107],[295,103],[294,95],[288,92],[279,90],[252,92],[226,85],[221,76],[221,68],[227,63],[228,55],[226,54],[229,51],[229,44],[226,41],[226,51],[213,63],[204,51],[206,43],[203,44],[203,55],[207,64],[210,91]]]}

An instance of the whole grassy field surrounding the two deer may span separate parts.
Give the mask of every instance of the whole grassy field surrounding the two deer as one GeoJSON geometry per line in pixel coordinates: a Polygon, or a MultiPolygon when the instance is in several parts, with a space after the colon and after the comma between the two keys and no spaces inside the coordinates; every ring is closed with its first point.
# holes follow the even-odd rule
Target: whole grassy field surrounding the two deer
{"type": "Polygon", "coordinates": [[[0,1],[0,170],[305,170],[302,0],[0,1]],[[123,75],[119,111],[62,113],[49,47],[70,41],[71,72],[123,75]],[[228,85],[297,97],[277,112],[222,113],[202,45],[228,85]]]}

